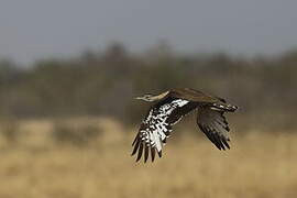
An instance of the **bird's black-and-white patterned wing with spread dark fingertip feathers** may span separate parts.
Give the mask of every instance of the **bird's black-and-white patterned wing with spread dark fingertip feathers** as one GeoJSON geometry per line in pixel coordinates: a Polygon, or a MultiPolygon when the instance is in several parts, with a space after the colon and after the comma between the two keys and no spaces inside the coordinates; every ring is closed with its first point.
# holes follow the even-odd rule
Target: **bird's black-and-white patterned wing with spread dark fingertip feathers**
{"type": "MultiPolygon", "coordinates": [[[[183,109],[189,103],[187,100],[172,98],[166,103],[153,106],[146,118],[142,121],[139,133],[133,142],[132,155],[138,153],[136,162],[140,161],[144,151],[144,162],[150,155],[152,162],[155,158],[155,152],[162,156],[162,146],[166,143],[166,139],[170,134],[172,125],[180,120],[182,116],[177,116],[177,109],[183,109]],[[170,119],[174,116],[174,119],[170,119]]],[[[180,113],[186,111],[180,111],[180,113]]],[[[182,113],[182,114],[183,114],[182,113]]]]}

